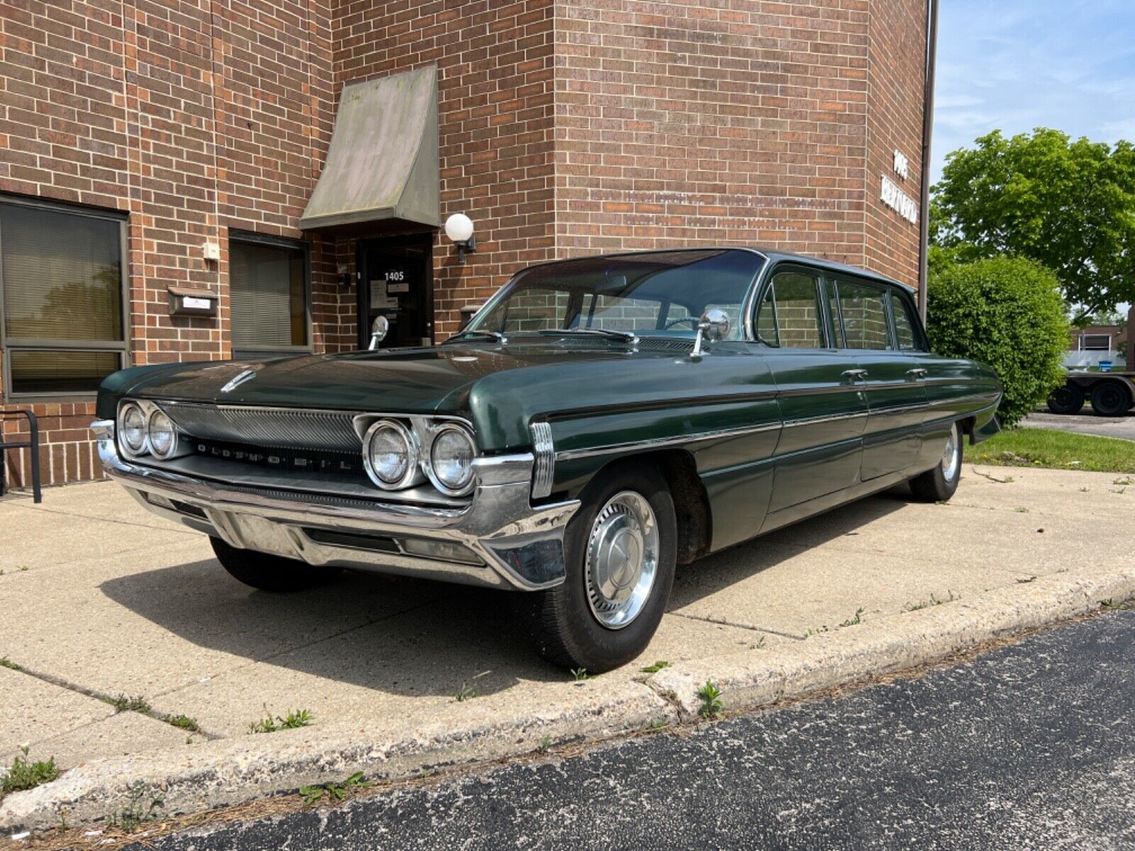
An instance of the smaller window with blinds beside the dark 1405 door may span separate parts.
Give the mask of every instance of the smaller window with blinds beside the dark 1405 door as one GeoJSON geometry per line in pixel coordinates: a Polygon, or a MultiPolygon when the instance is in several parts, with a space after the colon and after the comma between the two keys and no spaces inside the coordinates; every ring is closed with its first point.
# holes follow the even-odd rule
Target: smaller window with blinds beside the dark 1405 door
{"type": "Polygon", "coordinates": [[[308,345],[308,258],[303,248],[233,239],[228,284],[236,356],[308,345]]]}

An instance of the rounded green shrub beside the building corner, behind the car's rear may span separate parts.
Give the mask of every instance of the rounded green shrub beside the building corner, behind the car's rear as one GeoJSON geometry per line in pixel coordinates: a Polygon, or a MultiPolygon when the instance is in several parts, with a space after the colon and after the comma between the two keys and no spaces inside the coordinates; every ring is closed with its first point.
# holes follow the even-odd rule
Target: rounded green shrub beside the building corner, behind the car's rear
{"type": "Polygon", "coordinates": [[[1062,381],[1068,318],[1057,277],[1039,263],[944,263],[931,276],[926,309],[938,354],[981,361],[1001,379],[1002,426],[1019,421],[1062,381]]]}

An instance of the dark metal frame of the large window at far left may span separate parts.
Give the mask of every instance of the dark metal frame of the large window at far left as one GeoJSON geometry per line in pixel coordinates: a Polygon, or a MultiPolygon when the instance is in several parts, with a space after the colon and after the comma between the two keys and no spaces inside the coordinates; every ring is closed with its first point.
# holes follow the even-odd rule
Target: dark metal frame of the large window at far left
{"type": "Polygon", "coordinates": [[[69,204],[62,201],[49,201],[43,199],[20,197],[18,195],[0,194],[0,204],[12,207],[25,207],[33,210],[44,210],[47,212],[62,213],[67,216],[82,216],[89,219],[102,219],[118,225],[118,269],[119,269],[119,309],[121,310],[123,339],[121,340],[54,340],[42,337],[10,337],[7,331],[7,318],[5,317],[5,273],[3,273],[3,234],[0,233],[0,356],[3,359],[3,393],[0,399],[3,402],[61,402],[75,399],[89,402],[96,396],[96,393],[76,393],[62,390],[52,393],[50,390],[36,390],[32,393],[17,393],[12,389],[11,379],[11,352],[112,352],[118,355],[118,369],[125,369],[131,362],[131,289],[129,289],[129,251],[127,243],[126,222],[127,214],[118,210],[107,210],[83,204],[69,204]]]}

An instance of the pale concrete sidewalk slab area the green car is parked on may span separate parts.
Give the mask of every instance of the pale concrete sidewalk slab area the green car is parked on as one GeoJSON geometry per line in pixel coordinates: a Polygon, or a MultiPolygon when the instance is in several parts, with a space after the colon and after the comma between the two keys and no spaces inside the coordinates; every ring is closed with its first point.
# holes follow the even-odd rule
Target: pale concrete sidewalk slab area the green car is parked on
{"type": "MultiPolygon", "coordinates": [[[[395,727],[419,739],[443,731],[474,751],[486,725],[531,733],[541,717],[597,717],[639,701],[640,668],[656,660],[675,672],[723,657],[745,666],[809,637],[944,614],[991,590],[1011,599],[1035,578],[1130,568],[1129,526],[1099,522],[1135,513],[1123,477],[977,470],[985,475],[965,465],[949,505],[897,489],[682,568],[641,659],[585,683],[529,650],[496,592],[346,574],[275,596],[230,579],[204,537],[152,517],[115,485],[49,490],[40,506],[9,498],[0,502],[0,766],[22,745],[64,768],[140,752],[151,768],[204,755],[219,766],[238,752],[310,752],[395,727]],[[462,692],[477,697],[459,701],[462,692]],[[107,700],[119,696],[149,710],[116,711],[107,700]],[[311,726],[250,732],[293,709],[309,710],[311,726]],[[200,732],[169,716],[193,718],[200,732]]],[[[650,700],[612,732],[673,717],[650,700]]]]}

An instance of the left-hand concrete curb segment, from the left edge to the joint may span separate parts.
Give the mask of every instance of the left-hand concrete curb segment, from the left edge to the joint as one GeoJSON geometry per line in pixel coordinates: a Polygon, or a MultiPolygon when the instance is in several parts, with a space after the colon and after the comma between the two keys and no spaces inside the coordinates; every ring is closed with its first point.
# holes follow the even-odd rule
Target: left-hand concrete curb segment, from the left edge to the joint
{"type": "Polygon", "coordinates": [[[454,703],[430,718],[388,724],[312,726],[204,742],[178,756],[151,751],[92,760],[59,780],[17,792],[0,803],[0,828],[43,829],[67,811],[72,825],[94,821],[129,803],[160,795],[162,816],[241,803],[354,772],[372,780],[406,780],[444,768],[531,753],[543,744],[600,741],[659,723],[675,723],[674,708],[637,682],[599,680],[549,683],[522,706],[507,694],[454,703]]]}

